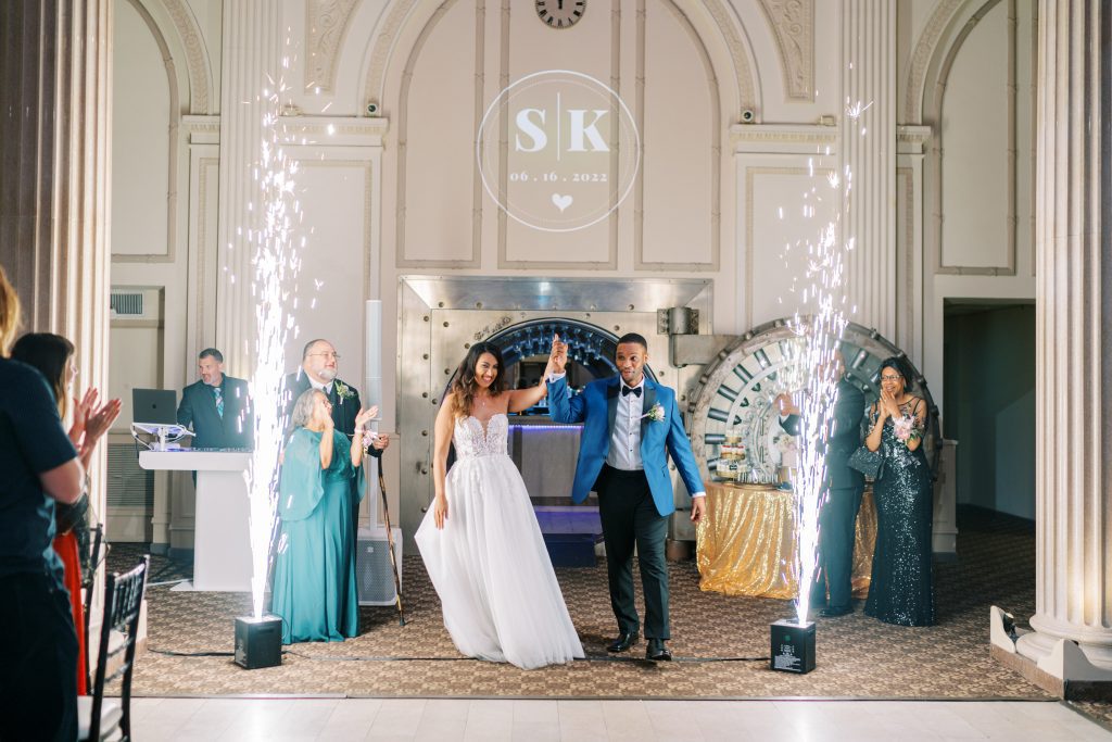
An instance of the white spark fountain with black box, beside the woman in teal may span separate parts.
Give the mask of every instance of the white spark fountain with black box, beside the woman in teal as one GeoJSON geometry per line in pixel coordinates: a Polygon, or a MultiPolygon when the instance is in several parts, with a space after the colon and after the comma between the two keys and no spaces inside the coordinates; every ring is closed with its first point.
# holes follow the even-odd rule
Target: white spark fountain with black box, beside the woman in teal
{"type": "MultiPolygon", "coordinates": [[[[289,58],[281,60],[289,69],[289,58]]],[[[300,270],[297,238],[301,221],[300,201],[295,189],[296,160],[287,156],[281,131],[280,99],[288,88],[282,78],[269,81],[260,100],[262,138],[259,161],[252,177],[261,196],[260,224],[240,231],[251,246],[251,297],[255,300],[255,368],[250,385],[255,407],[255,451],[244,476],[250,499],[251,603],[254,614],[236,619],[236,662],[255,669],[280,664],[281,619],[262,615],[262,601],[270,567],[270,543],[276,525],[278,467],[286,431],[285,369],[286,340],[297,326],[290,304],[290,286],[300,270]]],[[[296,304],[294,304],[296,306],[296,304]]]]}

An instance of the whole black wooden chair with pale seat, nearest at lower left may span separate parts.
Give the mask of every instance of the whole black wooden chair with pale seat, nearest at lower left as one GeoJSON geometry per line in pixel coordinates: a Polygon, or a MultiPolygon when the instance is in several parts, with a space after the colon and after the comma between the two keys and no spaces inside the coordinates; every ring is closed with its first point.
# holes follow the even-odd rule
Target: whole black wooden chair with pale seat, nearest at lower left
{"type": "Polygon", "coordinates": [[[149,567],[148,555],[130,572],[110,574],[105,580],[105,617],[100,624],[92,695],[78,698],[79,740],[131,739],[131,670],[149,567]],[[120,653],[122,662],[117,660],[120,653]],[[111,675],[107,672],[109,664],[113,665],[111,675]],[[105,699],[105,683],[120,676],[119,700],[105,699]]]}

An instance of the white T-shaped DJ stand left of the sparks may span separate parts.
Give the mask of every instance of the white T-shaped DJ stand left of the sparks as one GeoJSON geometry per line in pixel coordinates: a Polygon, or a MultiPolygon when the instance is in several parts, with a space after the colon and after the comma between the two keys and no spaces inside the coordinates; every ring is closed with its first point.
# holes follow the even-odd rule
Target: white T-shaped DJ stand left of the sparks
{"type": "Polygon", "coordinates": [[[145,469],[197,472],[192,590],[251,590],[250,507],[244,478],[250,461],[242,452],[139,452],[145,469]]]}

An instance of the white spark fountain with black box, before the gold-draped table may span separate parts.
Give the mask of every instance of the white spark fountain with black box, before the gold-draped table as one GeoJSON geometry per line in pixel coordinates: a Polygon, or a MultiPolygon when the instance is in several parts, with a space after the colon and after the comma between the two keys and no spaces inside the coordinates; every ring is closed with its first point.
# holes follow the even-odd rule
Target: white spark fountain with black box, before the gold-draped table
{"type": "MultiPolygon", "coordinates": [[[[856,126],[867,108],[860,103],[847,106],[847,125],[856,126]]],[[[852,184],[853,174],[848,167],[844,179],[836,174],[827,177],[831,189],[841,190],[843,212],[848,207],[852,184]]],[[[810,672],[815,666],[815,624],[807,622],[807,613],[818,557],[818,512],[826,479],[825,439],[830,434],[830,413],[837,400],[835,354],[847,324],[843,257],[853,250],[854,240],[853,236],[840,238],[840,221],[835,216],[817,239],[805,246],[804,286],[800,307],[790,321],[796,342],[788,344],[794,363],[786,366],[793,370],[783,382],[790,385],[788,392],[800,409],[798,459],[792,483],[800,592],[795,600],[795,621],[777,621],[771,626],[772,669],[797,673],[810,672]]]]}

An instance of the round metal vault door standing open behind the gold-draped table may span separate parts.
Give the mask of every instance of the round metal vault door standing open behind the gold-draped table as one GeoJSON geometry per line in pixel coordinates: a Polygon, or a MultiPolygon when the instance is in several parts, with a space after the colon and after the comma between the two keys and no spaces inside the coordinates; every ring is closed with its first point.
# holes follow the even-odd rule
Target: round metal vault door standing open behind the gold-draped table
{"type": "MultiPolygon", "coordinates": [[[[800,343],[784,320],[747,333],[725,357],[702,377],[702,386],[688,407],[692,413],[692,448],[704,476],[714,474],[727,435],[741,438],[745,458],[756,481],[775,481],[781,465],[791,465],[794,439],[780,425],[776,395],[796,392],[800,375],[793,358],[800,343]]],[[[880,365],[900,350],[875,333],[850,324],[840,344],[846,375],[865,395],[866,404],[880,396],[880,365]]],[[[917,373],[916,373],[916,376],[917,373]]],[[[919,380],[919,379],[916,379],[919,380]]],[[[924,438],[927,461],[934,465],[937,415],[930,392],[920,383],[912,389],[932,410],[924,438]]],[[[862,414],[864,414],[862,409],[862,414]]]]}

